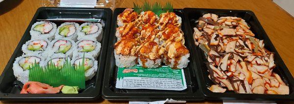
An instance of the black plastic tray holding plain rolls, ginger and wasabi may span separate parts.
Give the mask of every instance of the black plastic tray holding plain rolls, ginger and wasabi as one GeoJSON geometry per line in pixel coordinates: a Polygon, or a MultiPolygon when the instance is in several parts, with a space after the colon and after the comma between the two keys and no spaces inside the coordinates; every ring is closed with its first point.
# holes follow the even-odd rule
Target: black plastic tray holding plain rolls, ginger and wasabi
{"type": "MultiPolygon", "coordinates": [[[[98,99],[100,95],[100,88],[102,84],[103,69],[105,64],[105,56],[107,50],[107,43],[109,38],[109,28],[111,23],[112,10],[109,8],[60,8],[60,7],[41,7],[37,10],[31,22],[29,23],[25,34],[15,51],[13,52],[9,62],[0,77],[0,100],[7,101],[89,101],[98,99]],[[80,91],[78,94],[20,94],[23,83],[16,80],[13,75],[13,62],[15,58],[21,56],[22,45],[30,40],[31,26],[37,19],[48,18],[97,18],[102,19],[105,23],[103,28],[103,38],[101,41],[101,52],[98,57],[98,71],[91,80],[86,82],[86,89],[80,91]]],[[[62,22],[54,22],[60,25],[62,22]]],[[[82,22],[78,22],[81,24],[82,22]]]]}

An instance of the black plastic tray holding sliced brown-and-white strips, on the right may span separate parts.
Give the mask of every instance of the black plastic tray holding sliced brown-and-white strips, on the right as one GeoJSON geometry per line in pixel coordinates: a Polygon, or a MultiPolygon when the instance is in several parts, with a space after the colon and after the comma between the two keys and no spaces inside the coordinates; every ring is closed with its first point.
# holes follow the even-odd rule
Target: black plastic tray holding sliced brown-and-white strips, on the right
{"type": "Polygon", "coordinates": [[[248,10],[225,10],[225,9],[201,9],[201,8],[184,8],[185,20],[187,23],[187,30],[189,37],[193,39],[193,28],[196,27],[195,20],[198,20],[199,17],[206,13],[213,13],[218,16],[235,16],[244,19],[250,26],[250,30],[255,34],[255,37],[264,40],[265,48],[274,52],[274,59],[276,68],[273,72],[280,75],[285,83],[289,84],[290,94],[289,95],[269,95],[269,94],[238,94],[233,91],[226,91],[224,93],[214,93],[211,92],[207,87],[211,86],[213,82],[208,78],[207,67],[204,62],[207,62],[204,52],[194,44],[190,42],[193,46],[192,53],[197,54],[196,66],[197,66],[197,78],[198,85],[202,90],[205,99],[207,100],[269,100],[269,101],[278,101],[278,100],[294,100],[294,79],[286,67],[285,63],[281,59],[280,55],[274,48],[273,44],[270,42],[270,39],[261,24],[257,20],[256,16],[252,11],[248,10]]]}

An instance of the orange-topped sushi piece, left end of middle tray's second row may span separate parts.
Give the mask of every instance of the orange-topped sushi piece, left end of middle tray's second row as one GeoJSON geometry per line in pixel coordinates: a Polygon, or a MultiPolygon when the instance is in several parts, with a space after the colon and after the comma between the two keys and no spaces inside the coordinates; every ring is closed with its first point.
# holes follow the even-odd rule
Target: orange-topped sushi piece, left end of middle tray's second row
{"type": "Polygon", "coordinates": [[[140,36],[140,30],[136,27],[135,22],[131,22],[124,26],[118,27],[115,36],[118,41],[129,38],[135,39],[140,36]]]}

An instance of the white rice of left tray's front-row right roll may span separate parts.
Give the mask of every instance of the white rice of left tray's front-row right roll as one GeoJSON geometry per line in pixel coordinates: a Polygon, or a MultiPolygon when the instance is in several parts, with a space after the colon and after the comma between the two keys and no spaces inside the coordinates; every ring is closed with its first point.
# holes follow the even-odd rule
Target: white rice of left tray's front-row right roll
{"type": "MultiPolygon", "coordinates": [[[[74,64],[74,61],[76,61],[78,59],[81,59],[81,58],[83,58],[83,56],[75,57],[75,58],[73,58],[73,60],[71,61],[71,63],[74,64]]],[[[94,62],[93,67],[91,67],[90,69],[88,69],[88,70],[85,71],[85,79],[87,81],[87,80],[92,79],[96,75],[96,72],[97,72],[97,69],[98,69],[98,61],[96,61],[94,59],[94,57],[92,57],[92,56],[86,56],[85,55],[84,58],[89,58],[89,59],[91,59],[94,62]]]]}

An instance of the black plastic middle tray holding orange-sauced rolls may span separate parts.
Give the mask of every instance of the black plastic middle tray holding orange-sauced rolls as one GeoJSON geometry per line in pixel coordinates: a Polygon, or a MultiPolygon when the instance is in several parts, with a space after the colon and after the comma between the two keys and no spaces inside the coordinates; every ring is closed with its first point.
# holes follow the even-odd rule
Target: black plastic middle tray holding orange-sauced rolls
{"type": "MultiPolygon", "coordinates": [[[[196,81],[196,73],[194,62],[192,57],[195,57],[190,53],[190,62],[187,68],[184,68],[184,73],[187,82],[187,89],[182,91],[169,91],[169,90],[151,90],[151,89],[118,89],[115,87],[118,67],[115,65],[114,48],[113,45],[117,42],[115,36],[117,28],[117,16],[123,12],[125,8],[116,8],[112,19],[112,27],[109,38],[107,63],[105,65],[104,82],[102,88],[102,98],[106,100],[166,100],[172,98],[173,100],[203,100],[196,81]]],[[[186,37],[184,29],[184,18],[182,9],[174,9],[174,13],[182,18],[182,30],[184,31],[185,40],[186,37]]],[[[185,46],[191,50],[190,44],[185,43],[185,46]]]]}

